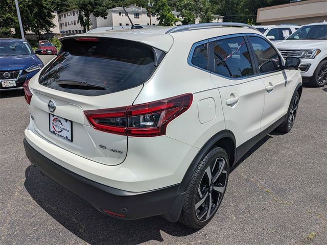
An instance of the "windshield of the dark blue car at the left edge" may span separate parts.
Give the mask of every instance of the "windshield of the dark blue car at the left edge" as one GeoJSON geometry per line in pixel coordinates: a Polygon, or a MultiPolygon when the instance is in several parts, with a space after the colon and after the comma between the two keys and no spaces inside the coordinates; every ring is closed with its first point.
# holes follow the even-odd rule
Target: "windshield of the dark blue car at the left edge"
{"type": "Polygon", "coordinates": [[[0,40],[0,55],[16,56],[33,54],[29,44],[20,40],[0,40]]]}

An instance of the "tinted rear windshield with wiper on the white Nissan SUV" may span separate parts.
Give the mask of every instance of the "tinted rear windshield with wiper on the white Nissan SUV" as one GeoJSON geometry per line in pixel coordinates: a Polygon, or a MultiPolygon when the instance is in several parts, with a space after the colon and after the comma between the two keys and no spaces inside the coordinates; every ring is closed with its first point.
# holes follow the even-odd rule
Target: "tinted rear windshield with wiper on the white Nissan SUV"
{"type": "MultiPolygon", "coordinates": [[[[39,83],[61,91],[101,95],[143,84],[152,75],[154,49],[121,39],[66,39],[39,83]]],[[[158,52],[158,51],[156,51],[158,52]]]]}

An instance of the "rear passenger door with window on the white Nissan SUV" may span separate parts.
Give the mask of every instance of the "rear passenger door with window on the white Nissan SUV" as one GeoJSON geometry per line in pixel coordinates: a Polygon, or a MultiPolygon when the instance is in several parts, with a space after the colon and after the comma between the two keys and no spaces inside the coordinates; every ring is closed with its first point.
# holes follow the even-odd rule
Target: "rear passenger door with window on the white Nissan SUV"
{"type": "Polygon", "coordinates": [[[233,132],[236,146],[259,136],[265,85],[255,75],[253,59],[242,36],[211,42],[211,78],[218,87],[225,128],[233,132]]]}

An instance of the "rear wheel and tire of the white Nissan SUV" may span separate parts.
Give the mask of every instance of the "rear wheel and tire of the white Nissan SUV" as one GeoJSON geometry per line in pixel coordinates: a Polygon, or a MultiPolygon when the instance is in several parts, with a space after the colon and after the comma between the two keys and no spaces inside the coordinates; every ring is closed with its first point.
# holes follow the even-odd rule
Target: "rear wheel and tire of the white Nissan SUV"
{"type": "Polygon", "coordinates": [[[208,224],[224,197],[228,176],[226,151],[220,147],[210,150],[199,162],[186,190],[179,221],[194,229],[208,224]]]}

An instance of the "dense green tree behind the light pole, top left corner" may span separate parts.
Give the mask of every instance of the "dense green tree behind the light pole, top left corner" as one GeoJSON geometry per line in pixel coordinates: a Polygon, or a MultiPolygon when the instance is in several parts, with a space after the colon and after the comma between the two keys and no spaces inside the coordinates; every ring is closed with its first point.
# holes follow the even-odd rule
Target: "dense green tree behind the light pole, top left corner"
{"type": "MultiPolygon", "coordinates": [[[[51,0],[20,0],[19,9],[24,32],[42,34],[55,27],[51,0]]],[[[1,36],[21,38],[15,1],[1,0],[0,13],[1,36]]]]}

